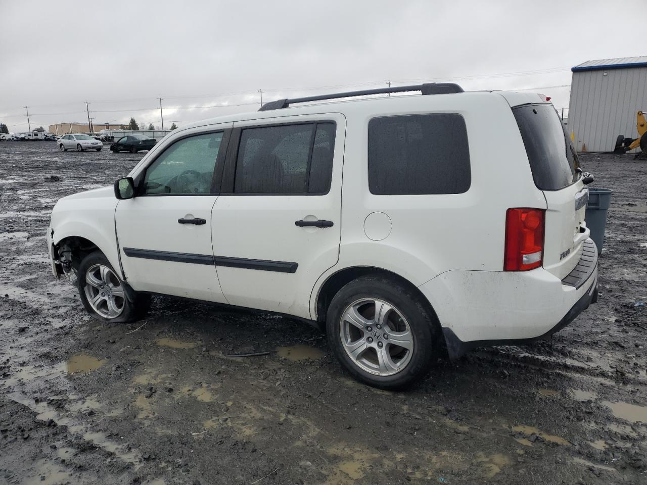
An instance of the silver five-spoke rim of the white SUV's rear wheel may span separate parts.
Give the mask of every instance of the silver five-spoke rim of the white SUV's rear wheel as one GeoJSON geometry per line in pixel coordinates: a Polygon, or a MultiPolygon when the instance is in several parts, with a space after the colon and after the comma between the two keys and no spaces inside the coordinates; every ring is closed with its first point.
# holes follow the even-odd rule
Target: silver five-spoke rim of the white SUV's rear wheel
{"type": "Polygon", "coordinates": [[[413,334],[406,318],[386,301],[364,298],[342,313],[342,347],[360,369],[376,376],[392,376],[413,355],[413,334]]]}

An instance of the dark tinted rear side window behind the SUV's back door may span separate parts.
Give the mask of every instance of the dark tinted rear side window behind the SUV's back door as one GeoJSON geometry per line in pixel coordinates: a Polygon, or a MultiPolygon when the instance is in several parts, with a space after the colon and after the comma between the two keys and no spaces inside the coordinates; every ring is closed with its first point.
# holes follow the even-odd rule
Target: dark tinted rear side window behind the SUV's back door
{"type": "Polygon", "coordinates": [[[386,116],[369,122],[371,193],[463,193],[470,182],[467,130],[460,114],[386,116]]]}

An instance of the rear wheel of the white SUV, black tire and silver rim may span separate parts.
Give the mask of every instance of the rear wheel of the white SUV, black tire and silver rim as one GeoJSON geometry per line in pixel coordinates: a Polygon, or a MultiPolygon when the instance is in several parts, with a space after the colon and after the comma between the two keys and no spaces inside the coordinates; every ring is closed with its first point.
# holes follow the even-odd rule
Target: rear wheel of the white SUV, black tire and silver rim
{"type": "Polygon", "coordinates": [[[399,281],[361,277],[333,297],[326,319],[328,342],[357,380],[400,389],[430,370],[439,347],[432,313],[399,281]]]}

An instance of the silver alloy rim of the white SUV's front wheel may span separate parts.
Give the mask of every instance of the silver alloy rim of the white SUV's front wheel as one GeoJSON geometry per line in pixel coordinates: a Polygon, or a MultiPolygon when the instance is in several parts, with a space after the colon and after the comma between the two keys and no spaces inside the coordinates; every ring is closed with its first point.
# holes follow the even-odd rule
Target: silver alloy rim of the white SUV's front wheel
{"type": "Polygon", "coordinates": [[[104,264],[93,264],[85,272],[85,297],[100,316],[113,319],[124,311],[124,286],[113,270],[104,264]]]}

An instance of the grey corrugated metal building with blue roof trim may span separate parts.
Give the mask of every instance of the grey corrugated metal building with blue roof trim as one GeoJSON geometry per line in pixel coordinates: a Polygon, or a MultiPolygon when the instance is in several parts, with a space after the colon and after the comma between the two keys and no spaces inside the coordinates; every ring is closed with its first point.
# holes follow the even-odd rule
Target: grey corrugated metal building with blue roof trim
{"type": "Polygon", "coordinates": [[[578,151],[613,151],[618,135],[636,138],[647,112],[647,56],[586,61],[571,68],[568,129],[578,151]]]}

